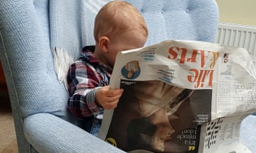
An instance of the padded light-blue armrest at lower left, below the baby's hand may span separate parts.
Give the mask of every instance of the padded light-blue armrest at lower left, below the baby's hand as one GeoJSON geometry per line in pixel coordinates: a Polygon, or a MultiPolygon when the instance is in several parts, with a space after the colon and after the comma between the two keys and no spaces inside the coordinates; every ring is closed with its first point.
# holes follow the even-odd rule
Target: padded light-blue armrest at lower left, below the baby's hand
{"type": "Polygon", "coordinates": [[[124,152],[48,113],[30,115],[23,124],[28,142],[38,152],[124,152]]]}

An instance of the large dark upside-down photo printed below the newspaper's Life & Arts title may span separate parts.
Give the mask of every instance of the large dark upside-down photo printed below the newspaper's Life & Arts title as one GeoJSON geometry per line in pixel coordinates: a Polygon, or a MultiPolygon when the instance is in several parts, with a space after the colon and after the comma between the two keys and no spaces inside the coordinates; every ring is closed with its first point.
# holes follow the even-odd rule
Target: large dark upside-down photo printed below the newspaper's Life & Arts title
{"type": "Polygon", "coordinates": [[[122,80],[124,95],[107,138],[125,151],[198,152],[200,124],[210,120],[211,90],[191,90],[162,81],[122,80]]]}

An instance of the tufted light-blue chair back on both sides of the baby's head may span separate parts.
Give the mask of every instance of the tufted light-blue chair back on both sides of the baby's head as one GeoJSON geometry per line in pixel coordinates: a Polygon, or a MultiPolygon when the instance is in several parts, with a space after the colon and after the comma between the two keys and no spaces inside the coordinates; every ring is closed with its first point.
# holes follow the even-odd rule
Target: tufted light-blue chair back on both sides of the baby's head
{"type": "MultiPolygon", "coordinates": [[[[110,0],[50,1],[51,47],[63,47],[73,57],[85,45],[95,45],[93,26],[97,11],[110,0]],[[63,5],[65,4],[65,5],[63,5]]],[[[126,0],[142,12],[153,45],[167,39],[214,42],[218,6],[212,0],[126,0]]]]}

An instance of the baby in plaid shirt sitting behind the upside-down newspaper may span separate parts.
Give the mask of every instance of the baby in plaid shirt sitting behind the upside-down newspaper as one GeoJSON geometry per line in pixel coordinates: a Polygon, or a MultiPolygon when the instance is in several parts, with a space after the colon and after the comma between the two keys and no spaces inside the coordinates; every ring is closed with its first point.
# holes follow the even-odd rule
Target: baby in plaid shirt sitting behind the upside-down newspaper
{"type": "Polygon", "coordinates": [[[148,37],[141,13],[124,1],[111,1],[95,18],[95,46],[85,46],[68,70],[68,108],[97,135],[102,111],[117,107],[123,89],[108,86],[117,52],[143,47],[148,37]]]}

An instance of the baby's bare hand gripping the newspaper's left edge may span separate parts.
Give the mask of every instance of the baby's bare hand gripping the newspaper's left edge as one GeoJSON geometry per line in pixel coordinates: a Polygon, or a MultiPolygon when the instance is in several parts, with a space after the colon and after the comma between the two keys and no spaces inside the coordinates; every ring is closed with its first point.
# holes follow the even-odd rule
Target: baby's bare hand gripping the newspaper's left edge
{"type": "Polygon", "coordinates": [[[123,92],[124,89],[110,89],[110,86],[103,86],[97,89],[95,101],[104,109],[114,109],[117,107],[117,103],[123,92]]]}

